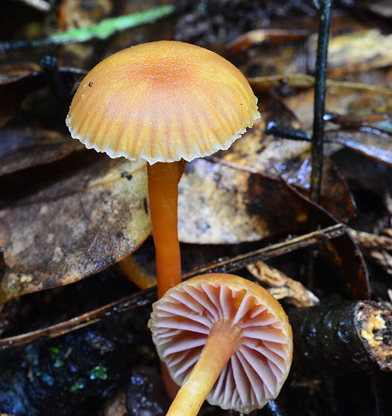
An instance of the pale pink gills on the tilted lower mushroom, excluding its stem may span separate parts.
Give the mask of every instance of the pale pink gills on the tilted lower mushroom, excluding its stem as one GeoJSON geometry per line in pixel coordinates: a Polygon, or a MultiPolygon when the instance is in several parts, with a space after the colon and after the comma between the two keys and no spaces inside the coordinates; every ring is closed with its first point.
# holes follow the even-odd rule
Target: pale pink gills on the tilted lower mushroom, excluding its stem
{"type": "MultiPolygon", "coordinates": [[[[290,340],[280,319],[245,288],[224,283],[180,285],[154,306],[150,326],[158,354],[182,386],[216,322],[241,332],[234,355],[207,396],[210,404],[249,413],[275,398],[290,365],[290,340]]],[[[222,345],[224,345],[222,339],[222,345]]]]}

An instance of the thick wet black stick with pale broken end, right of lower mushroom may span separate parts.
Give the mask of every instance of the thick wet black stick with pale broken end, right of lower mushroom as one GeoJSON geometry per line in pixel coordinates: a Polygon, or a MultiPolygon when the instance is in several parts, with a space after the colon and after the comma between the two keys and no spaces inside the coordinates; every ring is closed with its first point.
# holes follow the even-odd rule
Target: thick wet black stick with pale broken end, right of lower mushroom
{"type": "Polygon", "coordinates": [[[392,306],[352,301],[288,312],[294,334],[292,374],[392,371],[392,306]]]}

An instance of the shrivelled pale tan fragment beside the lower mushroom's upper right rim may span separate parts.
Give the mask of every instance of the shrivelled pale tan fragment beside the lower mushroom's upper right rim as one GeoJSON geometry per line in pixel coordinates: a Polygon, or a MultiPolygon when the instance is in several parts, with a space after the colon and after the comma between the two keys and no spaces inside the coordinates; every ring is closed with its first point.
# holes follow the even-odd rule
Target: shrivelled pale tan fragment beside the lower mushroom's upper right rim
{"type": "Polygon", "coordinates": [[[320,302],[319,298],[302,283],[290,279],[290,277],[263,261],[258,261],[246,268],[259,282],[271,287],[267,290],[276,299],[288,297],[297,308],[318,305],[320,302]]]}

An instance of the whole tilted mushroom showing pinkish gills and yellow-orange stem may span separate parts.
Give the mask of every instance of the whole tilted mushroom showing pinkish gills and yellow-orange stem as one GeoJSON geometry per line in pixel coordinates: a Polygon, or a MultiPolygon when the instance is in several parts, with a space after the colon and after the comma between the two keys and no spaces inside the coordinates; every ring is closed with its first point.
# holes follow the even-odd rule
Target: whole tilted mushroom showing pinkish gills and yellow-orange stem
{"type": "Polygon", "coordinates": [[[278,395],[292,362],[283,308],[238,276],[212,273],[173,287],[154,303],[148,326],[182,386],[167,416],[195,416],[205,398],[242,413],[261,408],[278,395]]]}

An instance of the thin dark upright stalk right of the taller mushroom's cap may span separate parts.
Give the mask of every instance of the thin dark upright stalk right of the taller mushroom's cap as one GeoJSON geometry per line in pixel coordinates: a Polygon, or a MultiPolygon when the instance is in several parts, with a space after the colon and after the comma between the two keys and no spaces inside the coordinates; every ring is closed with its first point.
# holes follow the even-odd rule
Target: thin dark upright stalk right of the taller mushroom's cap
{"type": "Polygon", "coordinates": [[[331,22],[332,0],[320,2],[319,38],[317,41],[315,108],[312,137],[312,176],[310,196],[317,204],[320,203],[321,177],[323,162],[324,111],[325,111],[325,79],[327,73],[327,52],[329,26],[331,22]]]}

